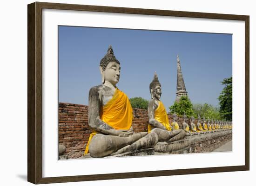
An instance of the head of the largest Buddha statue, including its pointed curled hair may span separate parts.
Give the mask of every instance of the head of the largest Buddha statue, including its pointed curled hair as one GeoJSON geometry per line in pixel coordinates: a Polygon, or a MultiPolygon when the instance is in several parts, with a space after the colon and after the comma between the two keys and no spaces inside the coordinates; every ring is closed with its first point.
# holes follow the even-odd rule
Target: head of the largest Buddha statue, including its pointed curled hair
{"type": "Polygon", "coordinates": [[[112,46],[108,46],[107,54],[101,59],[100,63],[101,82],[104,84],[106,81],[115,86],[120,78],[120,62],[115,58],[112,46]]]}

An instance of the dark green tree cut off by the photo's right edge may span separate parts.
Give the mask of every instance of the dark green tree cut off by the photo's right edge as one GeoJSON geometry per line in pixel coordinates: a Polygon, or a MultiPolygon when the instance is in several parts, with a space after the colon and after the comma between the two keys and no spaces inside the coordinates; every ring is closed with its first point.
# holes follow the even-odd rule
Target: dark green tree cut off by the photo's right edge
{"type": "Polygon", "coordinates": [[[225,87],[218,97],[221,117],[232,120],[232,77],[225,78],[221,82],[225,87]]]}

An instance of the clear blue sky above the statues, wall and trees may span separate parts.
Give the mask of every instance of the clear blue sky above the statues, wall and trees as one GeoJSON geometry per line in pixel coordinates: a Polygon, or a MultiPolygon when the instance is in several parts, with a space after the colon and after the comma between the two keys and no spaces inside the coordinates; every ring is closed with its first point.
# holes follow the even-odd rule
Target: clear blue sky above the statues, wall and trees
{"type": "Polygon", "coordinates": [[[220,82],[232,76],[231,34],[59,26],[59,102],[88,105],[108,45],[121,63],[117,87],[149,100],[156,71],[167,110],[176,97],[177,54],[192,103],[218,106],[220,82]]]}

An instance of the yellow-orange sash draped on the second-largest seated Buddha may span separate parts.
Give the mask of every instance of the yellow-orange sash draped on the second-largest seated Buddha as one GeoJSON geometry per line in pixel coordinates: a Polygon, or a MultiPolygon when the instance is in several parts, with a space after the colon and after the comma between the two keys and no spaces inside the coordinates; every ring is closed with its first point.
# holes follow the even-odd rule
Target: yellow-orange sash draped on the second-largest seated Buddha
{"type": "MultiPolygon", "coordinates": [[[[165,107],[161,101],[159,101],[159,105],[157,109],[155,110],[155,120],[162,123],[162,125],[169,131],[172,130],[172,127],[170,126],[169,119],[167,112],[165,110],[165,107]]],[[[148,124],[148,133],[153,129],[154,127],[150,124],[148,124]]]]}

